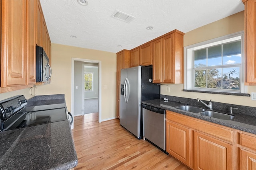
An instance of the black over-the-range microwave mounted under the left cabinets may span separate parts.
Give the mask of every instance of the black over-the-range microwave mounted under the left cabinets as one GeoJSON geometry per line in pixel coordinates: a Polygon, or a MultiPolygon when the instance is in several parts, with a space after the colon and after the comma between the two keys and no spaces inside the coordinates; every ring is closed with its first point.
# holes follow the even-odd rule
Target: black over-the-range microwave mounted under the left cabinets
{"type": "Polygon", "coordinates": [[[36,82],[48,82],[52,75],[52,69],[49,64],[43,47],[36,46],[36,82]]]}

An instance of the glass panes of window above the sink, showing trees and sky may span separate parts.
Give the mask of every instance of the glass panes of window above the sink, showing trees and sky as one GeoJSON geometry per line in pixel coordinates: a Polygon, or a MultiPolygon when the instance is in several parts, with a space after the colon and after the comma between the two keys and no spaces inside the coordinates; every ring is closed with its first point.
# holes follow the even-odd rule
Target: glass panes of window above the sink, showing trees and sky
{"type": "Polygon", "coordinates": [[[241,40],[194,51],[194,88],[240,90],[241,40]]]}

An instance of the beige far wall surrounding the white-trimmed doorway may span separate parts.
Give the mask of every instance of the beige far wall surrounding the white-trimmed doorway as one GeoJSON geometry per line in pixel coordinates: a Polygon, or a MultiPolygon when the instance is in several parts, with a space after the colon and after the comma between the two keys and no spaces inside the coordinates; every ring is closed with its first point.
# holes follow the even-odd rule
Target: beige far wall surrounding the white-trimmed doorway
{"type": "MultiPolygon", "coordinates": [[[[71,58],[102,63],[102,120],[116,117],[116,54],[92,49],[52,44],[52,82],[37,86],[37,95],[65,94],[71,111],[71,58]],[[103,89],[107,85],[107,89],[103,89]]],[[[81,99],[82,100],[82,99],[81,99]]]]}

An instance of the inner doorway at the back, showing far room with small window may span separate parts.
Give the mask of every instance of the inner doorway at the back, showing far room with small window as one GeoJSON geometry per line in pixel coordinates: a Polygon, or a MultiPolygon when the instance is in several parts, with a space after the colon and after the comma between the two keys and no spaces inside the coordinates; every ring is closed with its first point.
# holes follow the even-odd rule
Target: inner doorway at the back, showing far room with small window
{"type": "Polygon", "coordinates": [[[98,63],[82,64],[82,109],[84,114],[98,113],[98,63]]]}

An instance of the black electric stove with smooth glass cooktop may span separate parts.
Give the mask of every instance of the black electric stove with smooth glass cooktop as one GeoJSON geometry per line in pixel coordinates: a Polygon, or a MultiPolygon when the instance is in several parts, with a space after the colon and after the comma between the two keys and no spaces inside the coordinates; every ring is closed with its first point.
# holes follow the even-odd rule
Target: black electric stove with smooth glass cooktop
{"type": "Polygon", "coordinates": [[[33,107],[26,107],[26,105],[27,100],[23,95],[0,101],[0,131],[69,119],[70,113],[63,105],[33,107]]]}

